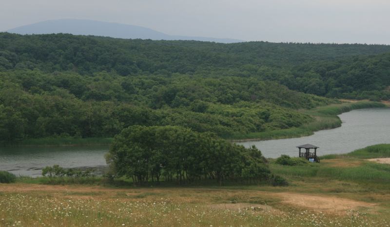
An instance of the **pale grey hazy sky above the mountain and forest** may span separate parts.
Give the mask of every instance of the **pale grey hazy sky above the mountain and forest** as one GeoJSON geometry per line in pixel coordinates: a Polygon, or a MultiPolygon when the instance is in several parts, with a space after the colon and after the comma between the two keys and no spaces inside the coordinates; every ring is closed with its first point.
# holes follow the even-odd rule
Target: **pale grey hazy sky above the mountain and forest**
{"type": "Polygon", "coordinates": [[[49,19],[182,36],[390,44],[390,0],[0,0],[0,31],[49,19]]]}

